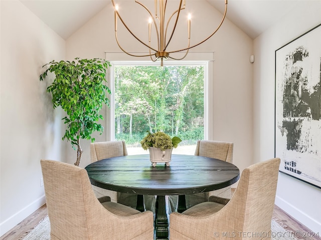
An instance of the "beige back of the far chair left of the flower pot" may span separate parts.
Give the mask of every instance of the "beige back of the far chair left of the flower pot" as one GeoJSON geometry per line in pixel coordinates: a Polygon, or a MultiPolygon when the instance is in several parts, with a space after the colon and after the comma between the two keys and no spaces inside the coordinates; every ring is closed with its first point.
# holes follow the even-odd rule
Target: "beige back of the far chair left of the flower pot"
{"type": "Polygon", "coordinates": [[[91,162],[126,155],[128,155],[128,153],[125,141],[102,141],[90,143],[91,162]]]}

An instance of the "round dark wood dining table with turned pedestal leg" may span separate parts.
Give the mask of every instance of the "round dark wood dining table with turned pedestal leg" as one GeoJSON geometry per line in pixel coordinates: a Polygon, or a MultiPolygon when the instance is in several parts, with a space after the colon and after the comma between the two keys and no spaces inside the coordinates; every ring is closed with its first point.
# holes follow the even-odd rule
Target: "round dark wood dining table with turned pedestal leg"
{"type": "Polygon", "coordinates": [[[153,167],[149,154],[141,154],[99,160],[85,169],[95,186],[137,195],[156,195],[156,239],[168,239],[166,195],[212,191],[229,186],[240,177],[237,166],[215,158],[173,154],[170,163],[170,166],[157,163],[153,167]]]}

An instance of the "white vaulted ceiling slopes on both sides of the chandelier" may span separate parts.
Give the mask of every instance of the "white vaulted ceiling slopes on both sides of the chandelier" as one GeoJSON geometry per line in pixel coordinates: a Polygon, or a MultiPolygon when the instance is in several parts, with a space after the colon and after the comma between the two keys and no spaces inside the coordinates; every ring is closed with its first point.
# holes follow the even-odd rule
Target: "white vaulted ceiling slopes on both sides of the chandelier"
{"type": "MultiPolygon", "coordinates": [[[[110,0],[21,0],[62,38],[110,4],[110,0]]],[[[224,0],[207,0],[223,13],[224,0]]],[[[187,0],[188,2],[188,0],[187,0]]],[[[228,0],[227,18],[252,39],[308,0],[228,0]]]]}

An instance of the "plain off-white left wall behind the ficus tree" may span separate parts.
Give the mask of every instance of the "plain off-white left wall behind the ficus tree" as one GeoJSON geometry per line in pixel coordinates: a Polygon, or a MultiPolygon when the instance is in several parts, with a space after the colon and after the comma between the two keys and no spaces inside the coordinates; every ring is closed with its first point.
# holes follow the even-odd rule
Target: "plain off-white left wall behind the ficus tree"
{"type": "Polygon", "coordinates": [[[65,41],[17,0],[1,0],[0,235],[45,203],[41,158],[60,160],[61,112],[40,82],[65,41]]]}

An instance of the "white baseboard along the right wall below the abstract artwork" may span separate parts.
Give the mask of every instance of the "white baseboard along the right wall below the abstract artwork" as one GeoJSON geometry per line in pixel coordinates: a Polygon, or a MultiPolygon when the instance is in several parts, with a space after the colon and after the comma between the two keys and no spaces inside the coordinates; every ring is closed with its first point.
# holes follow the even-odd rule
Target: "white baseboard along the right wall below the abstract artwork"
{"type": "MultiPolygon", "coordinates": [[[[280,207],[283,211],[285,211],[287,214],[295,218],[297,221],[305,225],[307,228],[309,228],[311,231],[315,233],[319,233],[321,235],[321,222],[318,222],[317,220],[311,218],[309,215],[306,215],[304,212],[302,212],[300,209],[296,208],[292,204],[285,201],[283,198],[276,196],[275,197],[275,205],[280,207]]],[[[318,206],[316,206],[318,207],[318,206]]]]}

